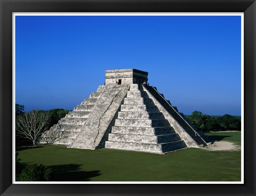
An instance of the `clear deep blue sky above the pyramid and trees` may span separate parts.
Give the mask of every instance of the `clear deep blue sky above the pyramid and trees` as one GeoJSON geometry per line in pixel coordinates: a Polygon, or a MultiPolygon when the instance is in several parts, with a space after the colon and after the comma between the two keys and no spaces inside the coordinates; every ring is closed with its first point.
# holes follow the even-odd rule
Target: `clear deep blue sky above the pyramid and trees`
{"type": "Polygon", "coordinates": [[[105,70],[148,71],[179,112],[241,115],[241,16],[16,16],[15,99],[72,110],[105,70]]]}

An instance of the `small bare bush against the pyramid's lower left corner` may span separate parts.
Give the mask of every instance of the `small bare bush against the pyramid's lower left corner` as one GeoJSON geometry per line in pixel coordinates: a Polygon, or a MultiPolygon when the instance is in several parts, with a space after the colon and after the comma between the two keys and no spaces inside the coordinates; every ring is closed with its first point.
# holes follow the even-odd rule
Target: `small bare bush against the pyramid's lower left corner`
{"type": "Polygon", "coordinates": [[[60,140],[68,138],[69,132],[67,131],[57,131],[54,129],[50,129],[48,131],[45,131],[42,134],[42,137],[40,138],[41,141],[45,143],[55,143],[60,140]]]}

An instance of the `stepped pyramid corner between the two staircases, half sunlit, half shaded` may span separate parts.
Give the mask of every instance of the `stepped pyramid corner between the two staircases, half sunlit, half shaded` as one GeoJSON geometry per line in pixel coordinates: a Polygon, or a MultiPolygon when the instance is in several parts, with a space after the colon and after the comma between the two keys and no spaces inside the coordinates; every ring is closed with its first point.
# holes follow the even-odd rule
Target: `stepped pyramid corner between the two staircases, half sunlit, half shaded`
{"type": "Polygon", "coordinates": [[[165,154],[186,148],[140,84],[131,84],[106,148],[165,154]]]}

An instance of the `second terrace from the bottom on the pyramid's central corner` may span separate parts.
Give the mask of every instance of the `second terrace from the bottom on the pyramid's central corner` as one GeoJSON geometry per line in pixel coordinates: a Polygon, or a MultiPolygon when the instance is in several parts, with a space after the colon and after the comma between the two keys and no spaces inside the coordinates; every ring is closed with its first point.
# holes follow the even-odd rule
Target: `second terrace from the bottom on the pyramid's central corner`
{"type": "Polygon", "coordinates": [[[138,143],[166,143],[180,140],[177,133],[166,135],[136,135],[136,134],[122,134],[109,133],[108,141],[119,142],[138,142],[138,143]]]}

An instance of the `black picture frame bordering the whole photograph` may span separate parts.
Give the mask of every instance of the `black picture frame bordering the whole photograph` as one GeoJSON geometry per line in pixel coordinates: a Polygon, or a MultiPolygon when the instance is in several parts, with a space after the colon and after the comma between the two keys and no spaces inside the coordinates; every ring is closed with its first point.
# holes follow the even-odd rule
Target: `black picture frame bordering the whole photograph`
{"type": "Polygon", "coordinates": [[[255,0],[0,0],[0,3],[1,195],[255,195],[255,0]],[[12,184],[13,12],[244,12],[244,184],[12,184]]]}

